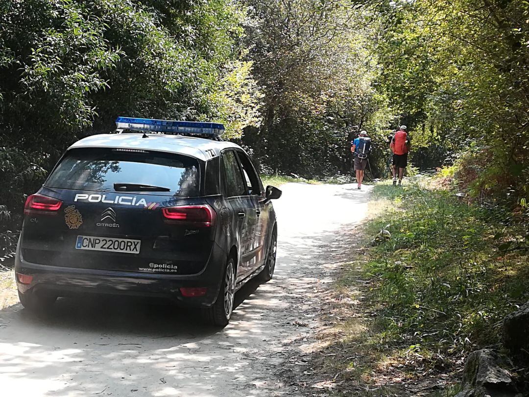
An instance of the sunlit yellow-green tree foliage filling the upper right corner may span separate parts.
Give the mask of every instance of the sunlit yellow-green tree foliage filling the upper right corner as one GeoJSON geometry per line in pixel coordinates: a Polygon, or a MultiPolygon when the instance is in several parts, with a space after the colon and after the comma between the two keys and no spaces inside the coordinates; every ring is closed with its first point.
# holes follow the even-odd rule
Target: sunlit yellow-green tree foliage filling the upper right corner
{"type": "Polygon", "coordinates": [[[476,195],[528,197],[528,16],[522,0],[382,7],[379,83],[412,127],[416,165],[469,152],[476,195]]]}

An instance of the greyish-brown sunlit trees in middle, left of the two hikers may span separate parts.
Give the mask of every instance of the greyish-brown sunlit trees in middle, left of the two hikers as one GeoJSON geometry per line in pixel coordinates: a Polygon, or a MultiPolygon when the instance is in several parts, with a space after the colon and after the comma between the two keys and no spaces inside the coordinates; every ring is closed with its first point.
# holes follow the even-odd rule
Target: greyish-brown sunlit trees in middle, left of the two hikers
{"type": "Polygon", "coordinates": [[[348,173],[352,126],[372,137],[387,128],[362,14],[341,0],[249,4],[248,56],[265,97],[262,126],[244,144],[265,172],[348,173]]]}

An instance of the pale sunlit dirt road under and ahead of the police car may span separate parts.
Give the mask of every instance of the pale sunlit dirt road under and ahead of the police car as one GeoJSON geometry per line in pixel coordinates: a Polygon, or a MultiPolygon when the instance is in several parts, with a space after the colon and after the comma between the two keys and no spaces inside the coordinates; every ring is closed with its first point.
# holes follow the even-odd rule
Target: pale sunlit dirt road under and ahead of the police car
{"type": "Polygon", "coordinates": [[[326,259],[339,255],[332,246],[342,231],[365,216],[368,189],[287,184],[283,191],[274,203],[275,277],[238,293],[228,327],[207,328],[152,302],[62,299],[46,319],[17,304],[0,312],[0,394],[299,395],[278,376],[286,346],[314,336],[321,294],[336,272],[326,259]]]}

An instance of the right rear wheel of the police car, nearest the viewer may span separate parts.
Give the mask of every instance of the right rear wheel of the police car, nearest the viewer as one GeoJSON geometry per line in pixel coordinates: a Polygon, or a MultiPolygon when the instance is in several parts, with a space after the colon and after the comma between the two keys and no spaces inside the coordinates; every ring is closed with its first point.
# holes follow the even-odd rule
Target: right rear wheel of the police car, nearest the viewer
{"type": "Polygon", "coordinates": [[[235,261],[228,259],[222,285],[218,291],[217,300],[211,306],[203,310],[204,320],[211,326],[226,327],[230,322],[233,312],[233,302],[235,296],[235,261]]]}

